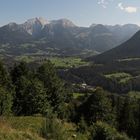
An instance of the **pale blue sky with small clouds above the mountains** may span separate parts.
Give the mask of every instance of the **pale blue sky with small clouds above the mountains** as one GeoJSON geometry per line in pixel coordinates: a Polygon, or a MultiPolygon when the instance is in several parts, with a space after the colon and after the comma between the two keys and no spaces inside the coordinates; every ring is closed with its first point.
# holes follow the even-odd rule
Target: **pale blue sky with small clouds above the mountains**
{"type": "Polygon", "coordinates": [[[0,26],[43,17],[67,18],[78,26],[140,25],[140,0],[0,0],[0,26]]]}

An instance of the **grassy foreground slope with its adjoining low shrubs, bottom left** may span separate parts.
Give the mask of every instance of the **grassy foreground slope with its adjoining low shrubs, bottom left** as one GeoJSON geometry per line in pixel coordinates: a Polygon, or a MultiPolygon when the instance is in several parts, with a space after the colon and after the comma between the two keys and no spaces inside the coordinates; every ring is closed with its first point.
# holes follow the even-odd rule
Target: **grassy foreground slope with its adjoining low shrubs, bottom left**
{"type": "Polygon", "coordinates": [[[46,140],[48,134],[52,137],[47,137],[47,140],[87,140],[85,135],[76,132],[74,124],[58,119],[47,123],[43,117],[0,118],[0,140],[46,140]]]}

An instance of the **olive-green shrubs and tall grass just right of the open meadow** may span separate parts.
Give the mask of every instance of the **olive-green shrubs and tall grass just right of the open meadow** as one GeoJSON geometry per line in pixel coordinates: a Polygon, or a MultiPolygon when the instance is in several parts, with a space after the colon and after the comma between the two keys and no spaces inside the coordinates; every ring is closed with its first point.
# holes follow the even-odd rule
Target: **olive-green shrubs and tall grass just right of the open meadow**
{"type": "Polygon", "coordinates": [[[42,136],[46,140],[88,140],[87,136],[76,132],[76,127],[72,123],[66,123],[55,117],[46,118],[42,136]]]}

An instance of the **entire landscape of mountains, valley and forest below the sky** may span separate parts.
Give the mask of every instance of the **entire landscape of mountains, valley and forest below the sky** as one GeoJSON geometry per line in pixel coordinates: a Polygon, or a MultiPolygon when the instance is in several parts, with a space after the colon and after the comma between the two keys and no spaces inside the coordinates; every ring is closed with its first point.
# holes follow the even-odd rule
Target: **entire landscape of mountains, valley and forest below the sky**
{"type": "Polygon", "coordinates": [[[139,140],[139,30],[43,18],[0,27],[0,139],[139,140]]]}

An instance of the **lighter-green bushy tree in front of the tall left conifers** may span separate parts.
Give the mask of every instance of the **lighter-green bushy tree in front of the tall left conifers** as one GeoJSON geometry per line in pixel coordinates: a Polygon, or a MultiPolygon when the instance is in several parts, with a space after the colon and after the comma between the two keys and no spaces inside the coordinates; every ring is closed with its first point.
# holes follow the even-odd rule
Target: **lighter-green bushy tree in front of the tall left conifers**
{"type": "Polygon", "coordinates": [[[38,79],[33,79],[29,83],[26,92],[28,94],[26,106],[28,107],[29,114],[46,114],[50,105],[42,82],[38,79]]]}

